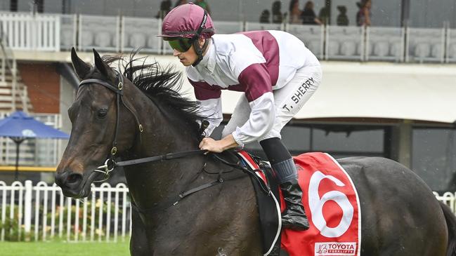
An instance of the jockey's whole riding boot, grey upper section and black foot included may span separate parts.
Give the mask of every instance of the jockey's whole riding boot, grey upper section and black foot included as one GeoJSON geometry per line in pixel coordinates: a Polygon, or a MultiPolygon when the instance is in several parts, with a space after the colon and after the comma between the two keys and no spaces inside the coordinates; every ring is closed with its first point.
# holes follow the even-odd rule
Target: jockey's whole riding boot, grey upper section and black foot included
{"type": "Polygon", "coordinates": [[[273,164],[280,182],[280,189],[285,199],[285,211],[282,213],[282,227],[285,229],[306,230],[308,220],[302,205],[302,190],[298,184],[298,175],[293,159],[273,164]]]}

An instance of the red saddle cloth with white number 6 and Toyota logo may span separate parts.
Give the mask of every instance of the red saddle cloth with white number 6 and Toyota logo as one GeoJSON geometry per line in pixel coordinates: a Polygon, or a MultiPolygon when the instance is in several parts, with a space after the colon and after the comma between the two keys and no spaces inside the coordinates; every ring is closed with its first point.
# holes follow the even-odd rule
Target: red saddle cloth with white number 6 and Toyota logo
{"type": "MultiPolygon", "coordinates": [[[[282,250],[289,256],[359,256],[361,213],[351,178],[329,154],[301,154],[294,162],[310,229],[282,229],[282,250]]],[[[280,202],[283,211],[282,194],[280,202]]]]}

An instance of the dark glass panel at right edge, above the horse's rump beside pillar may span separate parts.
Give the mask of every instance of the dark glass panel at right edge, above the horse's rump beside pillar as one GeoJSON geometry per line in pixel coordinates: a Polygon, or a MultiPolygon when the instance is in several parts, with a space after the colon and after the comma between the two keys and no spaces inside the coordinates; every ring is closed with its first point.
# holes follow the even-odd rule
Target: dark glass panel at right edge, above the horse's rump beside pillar
{"type": "Polygon", "coordinates": [[[412,169],[435,191],[456,189],[456,130],[414,128],[412,169]]]}

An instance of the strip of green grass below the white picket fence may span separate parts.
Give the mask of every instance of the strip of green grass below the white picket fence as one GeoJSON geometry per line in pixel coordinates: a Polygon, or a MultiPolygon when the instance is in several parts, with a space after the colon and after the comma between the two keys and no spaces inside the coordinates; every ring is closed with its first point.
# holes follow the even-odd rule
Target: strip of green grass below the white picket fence
{"type": "MultiPolygon", "coordinates": [[[[128,239],[127,239],[128,240],[128,239]]],[[[1,256],[125,256],[129,241],[105,242],[0,242],[1,256]]]]}

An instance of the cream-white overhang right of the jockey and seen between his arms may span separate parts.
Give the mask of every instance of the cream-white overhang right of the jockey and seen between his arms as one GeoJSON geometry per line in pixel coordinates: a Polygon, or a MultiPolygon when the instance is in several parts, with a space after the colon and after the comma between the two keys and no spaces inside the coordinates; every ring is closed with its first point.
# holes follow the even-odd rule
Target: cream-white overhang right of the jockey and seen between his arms
{"type": "MultiPolygon", "coordinates": [[[[377,118],[454,123],[456,66],[323,62],[323,81],[295,119],[377,118]]],[[[230,114],[238,93],[223,92],[230,114]]]]}

